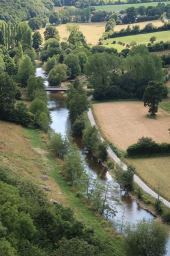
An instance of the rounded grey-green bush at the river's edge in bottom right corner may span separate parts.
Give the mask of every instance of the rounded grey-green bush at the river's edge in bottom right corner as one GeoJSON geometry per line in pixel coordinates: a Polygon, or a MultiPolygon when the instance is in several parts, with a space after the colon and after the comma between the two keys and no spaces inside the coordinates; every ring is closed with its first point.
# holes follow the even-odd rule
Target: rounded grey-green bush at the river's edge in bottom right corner
{"type": "Polygon", "coordinates": [[[129,255],[165,255],[168,235],[161,223],[142,219],[136,224],[128,224],[124,233],[129,255]]]}

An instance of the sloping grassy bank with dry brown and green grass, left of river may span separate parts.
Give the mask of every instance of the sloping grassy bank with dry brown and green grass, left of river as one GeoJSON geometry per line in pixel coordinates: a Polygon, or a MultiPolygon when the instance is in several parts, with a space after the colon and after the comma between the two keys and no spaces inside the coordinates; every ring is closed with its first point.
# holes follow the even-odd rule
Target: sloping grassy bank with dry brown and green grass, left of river
{"type": "Polygon", "coordinates": [[[117,235],[99,214],[95,215],[91,212],[86,202],[76,197],[73,189],[68,186],[61,175],[62,161],[48,149],[47,135],[3,121],[0,121],[0,127],[1,164],[41,187],[49,187],[51,191],[46,191],[49,199],[71,207],[78,220],[94,228],[96,238],[100,237],[104,243],[107,242],[115,248],[115,255],[125,255],[122,246],[123,237],[117,235]],[[42,175],[49,175],[48,180],[42,180],[42,175]]]}

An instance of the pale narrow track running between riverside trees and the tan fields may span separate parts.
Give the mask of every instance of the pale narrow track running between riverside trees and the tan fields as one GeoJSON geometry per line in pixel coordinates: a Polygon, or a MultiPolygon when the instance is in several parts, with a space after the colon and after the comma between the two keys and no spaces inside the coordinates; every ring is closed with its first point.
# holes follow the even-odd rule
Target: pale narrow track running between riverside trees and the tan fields
{"type": "MultiPolygon", "coordinates": [[[[91,123],[91,125],[96,125],[96,122],[94,120],[93,117],[93,113],[91,112],[91,109],[88,110],[88,118],[89,121],[91,123]]],[[[96,125],[97,126],[97,125],[96,125]]],[[[101,140],[103,140],[103,138],[101,137],[101,140]]],[[[108,154],[109,156],[114,160],[115,163],[121,165],[122,169],[124,171],[127,170],[127,165],[126,164],[122,164],[122,161],[116,156],[116,154],[113,152],[113,150],[108,147],[108,154]]],[[[158,198],[158,194],[156,194],[152,189],[150,189],[144,182],[142,182],[142,180],[140,180],[140,178],[135,174],[134,175],[134,181],[136,182],[136,184],[138,184],[139,187],[141,187],[146,193],[148,193],[149,195],[151,195],[154,198],[158,198]]],[[[165,206],[167,206],[168,208],[170,208],[170,202],[168,202],[167,200],[165,200],[164,198],[160,197],[160,200],[165,204],[165,206]]]]}

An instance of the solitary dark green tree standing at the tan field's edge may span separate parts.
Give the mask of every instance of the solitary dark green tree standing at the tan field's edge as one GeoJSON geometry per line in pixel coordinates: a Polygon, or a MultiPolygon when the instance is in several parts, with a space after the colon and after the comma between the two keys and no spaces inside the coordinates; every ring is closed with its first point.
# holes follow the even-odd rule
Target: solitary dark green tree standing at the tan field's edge
{"type": "Polygon", "coordinates": [[[166,87],[158,81],[150,81],[143,94],[143,102],[145,107],[149,107],[149,113],[158,112],[158,105],[162,101],[166,87]]]}

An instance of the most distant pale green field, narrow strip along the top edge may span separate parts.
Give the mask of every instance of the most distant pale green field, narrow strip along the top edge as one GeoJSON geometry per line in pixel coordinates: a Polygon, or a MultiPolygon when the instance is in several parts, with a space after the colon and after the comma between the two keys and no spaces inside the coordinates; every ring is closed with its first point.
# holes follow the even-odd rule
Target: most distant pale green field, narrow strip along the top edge
{"type": "Polygon", "coordinates": [[[151,3],[139,3],[139,4],[124,4],[124,5],[99,5],[95,6],[96,10],[105,10],[105,11],[121,11],[126,10],[128,7],[135,7],[138,8],[139,6],[157,6],[158,2],[151,2],[151,3]]]}

